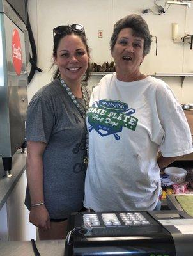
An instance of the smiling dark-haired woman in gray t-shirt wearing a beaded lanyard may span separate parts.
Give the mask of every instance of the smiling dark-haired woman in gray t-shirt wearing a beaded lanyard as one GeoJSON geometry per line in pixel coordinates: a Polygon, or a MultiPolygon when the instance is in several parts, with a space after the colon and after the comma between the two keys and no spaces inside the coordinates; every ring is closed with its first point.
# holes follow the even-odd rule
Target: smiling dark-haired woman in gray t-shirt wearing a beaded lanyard
{"type": "Polygon", "coordinates": [[[81,211],[87,162],[89,47],[84,27],[54,28],[50,84],[29,103],[26,121],[29,221],[40,239],[65,239],[70,212],[81,211]]]}

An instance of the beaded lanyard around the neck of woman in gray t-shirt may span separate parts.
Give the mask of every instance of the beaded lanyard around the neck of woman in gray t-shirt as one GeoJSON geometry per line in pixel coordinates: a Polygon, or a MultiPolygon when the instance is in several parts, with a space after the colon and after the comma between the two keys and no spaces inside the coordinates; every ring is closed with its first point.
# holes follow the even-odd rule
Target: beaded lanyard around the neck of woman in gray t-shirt
{"type": "MultiPolygon", "coordinates": [[[[60,78],[59,81],[60,81],[60,83],[61,83],[61,86],[63,86],[63,88],[65,88],[66,93],[68,94],[68,96],[69,96],[70,99],[72,100],[73,104],[75,104],[75,106],[76,106],[77,109],[79,110],[79,113],[81,114],[82,118],[83,118],[84,121],[85,121],[86,111],[88,110],[88,102],[87,102],[87,99],[86,99],[86,95],[85,95],[85,93],[84,93],[84,90],[82,89],[82,84],[81,84],[82,98],[84,99],[84,103],[85,103],[85,106],[86,106],[86,111],[85,111],[85,113],[82,111],[80,104],[77,102],[77,100],[76,100],[76,98],[75,98],[75,95],[73,95],[73,93],[71,92],[70,88],[67,86],[67,84],[65,84],[65,81],[64,81],[62,78],[60,78]]],[[[86,129],[85,137],[86,137],[86,143],[85,143],[86,156],[85,156],[85,158],[84,158],[84,163],[85,163],[85,164],[88,164],[88,131],[87,131],[87,129],[86,129]]]]}

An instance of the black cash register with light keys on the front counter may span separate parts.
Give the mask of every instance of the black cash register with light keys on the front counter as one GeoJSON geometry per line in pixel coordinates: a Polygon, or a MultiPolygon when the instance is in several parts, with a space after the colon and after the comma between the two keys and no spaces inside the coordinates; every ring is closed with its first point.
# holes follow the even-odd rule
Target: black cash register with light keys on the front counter
{"type": "Polygon", "coordinates": [[[65,256],[193,255],[193,218],[183,211],[78,212],[65,256]]]}

